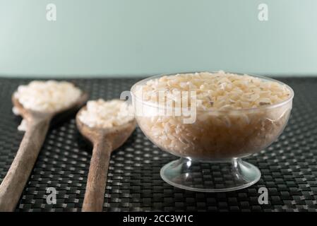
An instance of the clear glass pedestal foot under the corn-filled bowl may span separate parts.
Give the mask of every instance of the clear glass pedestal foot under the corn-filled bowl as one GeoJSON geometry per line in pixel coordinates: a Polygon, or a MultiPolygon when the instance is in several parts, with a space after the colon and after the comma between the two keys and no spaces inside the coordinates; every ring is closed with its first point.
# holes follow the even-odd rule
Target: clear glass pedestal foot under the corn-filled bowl
{"type": "Polygon", "coordinates": [[[244,189],[261,178],[260,170],[241,158],[198,162],[181,157],[162,167],[160,175],[172,186],[203,192],[244,189]]]}

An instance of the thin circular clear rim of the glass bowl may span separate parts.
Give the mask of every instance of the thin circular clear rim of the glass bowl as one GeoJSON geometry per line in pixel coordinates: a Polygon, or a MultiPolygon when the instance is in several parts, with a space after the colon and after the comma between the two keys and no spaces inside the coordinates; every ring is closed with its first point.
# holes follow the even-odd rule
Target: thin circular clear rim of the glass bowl
{"type": "MultiPolygon", "coordinates": [[[[158,103],[145,102],[143,100],[140,100],[135,95],[135,93],[133,92],[136,89],[136,86],[140,85],[140,84],[143,84],[143,83],[146,83],[147,81],[150,81],[150,80],[155,79],[155,78],[161,78],[163,76],[175,76],[177,74],[203,73],[203,72],[218,73],[219,71],[196,71],[196,72],[189,71],[189,72],[179,72],[179,73],[161,73],[161,74],[157,74],[155,76],[150,76],[150,77],[147,77],[147,78],[143,78],[142,80],[134,83],[131,86],[131,89],[130,89],[131,97],[133,97],[136,100],[140,101],[142,103],[142,105],[148,105],[150,107],[155,107],[157,109],[167,109],[167,107],[158,105],[158,103]]],[[[260,106],[260,107],[241,108],[241,109],[216,109],[216,108],[211,107],[210,109],[196,109],[197,112],[225,112],[225,113],[228,113],[228,112],[230,112],[230,113],[234,113],[234,112],[256,112],[256,111],[263,110],[263,109],[273,109],[273,108],[276,108],[276,107],[280,107],[282,105],[286,105],[288,102],[292,101],[293,98],[294,98],[294,90],[289,85],[287,85],[286,83],[282,83],[281,81],[278,81],[278,80],[276,80],[274,78],[269,78],[269,77],[266,77],[266,76],[259,76],[259,75],[255,75],[255,74],[251,74],[251,73],[236,73],[236,72],[231,72],[231,71],[225,71],[225,73],[234,73],[234,74],[237,74],[239,76],[247,75],[247,76],[252,76],[252,77],[256,77],[256,78],[261,78],[261,79],[266,80],[266,81],[273,81],[273,82],[279,83],[281,85],[285,85],[285,87],[290,91],[291,95],[289,95],[289,97],[286,100],[283,100],[282,102],[277,102],[277,103],[275,103],[273,105],[263,105],[263,106],[260,106]]],[[[172,108],[174,109],[175,107],[172,107],[172,108]]]]}

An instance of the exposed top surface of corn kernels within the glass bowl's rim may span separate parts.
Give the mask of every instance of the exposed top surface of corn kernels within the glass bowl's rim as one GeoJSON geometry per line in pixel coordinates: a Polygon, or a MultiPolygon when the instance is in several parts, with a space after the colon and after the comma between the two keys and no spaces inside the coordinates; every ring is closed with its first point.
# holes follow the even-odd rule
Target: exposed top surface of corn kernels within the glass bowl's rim
{"type": "MultiPolygon", "coordinates": [[[[286,100],[290,91],[281,83],[234,73],[183,73],[162,76],[142,86],[143,101],[159,102],[159,92],[175,102],[177,92],[196,91],[198,109],[246,109],[286,100]]],[[[189,102],[189,107],[191,103],[189,102]]]]}

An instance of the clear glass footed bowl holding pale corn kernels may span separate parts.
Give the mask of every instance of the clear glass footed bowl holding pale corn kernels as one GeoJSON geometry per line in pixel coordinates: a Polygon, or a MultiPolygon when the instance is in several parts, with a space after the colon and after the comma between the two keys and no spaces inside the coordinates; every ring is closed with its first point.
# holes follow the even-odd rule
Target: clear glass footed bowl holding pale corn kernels
{"type": "MultiPolygon", "coordinates": [[[[169,75],[139,81],[132,86],[131,95],[136,121],[145,136],[162,150],[180,157],[162,167],[162,179],[181,189],[204,192],[234,191],[258,182],[260,170],[241,158],[267,148],[280,136],[292,109],[292,88],[286,85],[289,97],[274,105],[195,109],[190,112],[195,114],[192,117],[176,113],[175,106],[157,105],[140,98],[140,87],[161,76],[169,75]]],[[[272,78],[253,77],[285,85],[272,78]]]]}

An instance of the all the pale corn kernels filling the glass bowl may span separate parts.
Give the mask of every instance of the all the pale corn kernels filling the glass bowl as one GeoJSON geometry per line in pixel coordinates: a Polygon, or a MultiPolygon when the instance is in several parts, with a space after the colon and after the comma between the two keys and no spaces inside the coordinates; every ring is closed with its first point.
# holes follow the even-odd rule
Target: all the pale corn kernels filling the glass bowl
{"type": "Polygon", "coordinates": [[[292,109],[287,85],[223,71],[153,78],[132,92],[135,106],[142,109],[136,114],[138,125],[153,143],[174,155],[201,160],[263,150],[280,135],[292,109]],[[196,91],[196,109],[201,110],[196,120],[185,124],[184,115],[157,114],[165,104],[160,102],[162,91],[174,102],[182,102],[179,91],[196,91]],[[277,103],[282,104],[272,106],[277,103]]]}

